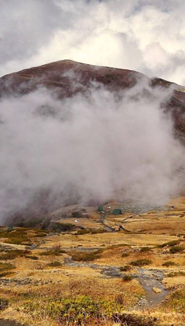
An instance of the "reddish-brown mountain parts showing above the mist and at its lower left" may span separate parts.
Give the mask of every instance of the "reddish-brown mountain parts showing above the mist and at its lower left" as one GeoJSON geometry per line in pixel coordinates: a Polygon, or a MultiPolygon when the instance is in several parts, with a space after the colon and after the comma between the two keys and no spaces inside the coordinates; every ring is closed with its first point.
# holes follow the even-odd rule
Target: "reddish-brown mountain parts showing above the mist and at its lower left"
{"type": "MultiPolygon", "coordinates": [[[[172,113],[174,134],[185,143],[185,88],[160,78],[149,78],[132,70],[61,60],[1,77],[0,98],[23,96],[40,87],[52,90],[58,98],[71,97],[79,92],[85,92],[89,87],[101,87],[101,85],[111,92],[119,92],[132,88],[138,82],[149,85],[151,92],[156,87],[164,90],[169,87],[172,89],[168,102],[165,102],[161,109],[172,113]]],[[[20,212],[14,214],[15,220],[19,220],[19,217],[27,217],[27,220],[33,221],[34,218],[60,208],[53,203],[49,190],[36,192],[29,208],[24,209],[21,214],[20,212]]],[[[75,201],[66,203],[69,204],[75,204],[75,201]]]]}

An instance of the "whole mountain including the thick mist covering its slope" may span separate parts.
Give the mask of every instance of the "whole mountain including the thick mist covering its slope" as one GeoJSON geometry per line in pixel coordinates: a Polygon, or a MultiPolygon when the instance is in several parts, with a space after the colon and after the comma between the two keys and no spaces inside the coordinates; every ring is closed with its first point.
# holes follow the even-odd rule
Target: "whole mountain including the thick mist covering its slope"
{"type": "Polygon", "coordinates": [[[184,187],[182,86],[62,60],[0,78],[1,222],[184,187]]]}

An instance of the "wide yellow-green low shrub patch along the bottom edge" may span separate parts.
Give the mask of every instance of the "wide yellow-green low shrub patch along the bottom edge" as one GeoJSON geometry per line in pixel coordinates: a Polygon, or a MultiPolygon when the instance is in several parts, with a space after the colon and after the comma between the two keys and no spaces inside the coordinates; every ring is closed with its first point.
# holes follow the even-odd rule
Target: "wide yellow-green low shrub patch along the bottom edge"
{"type": "Polygon", "coordinates": [[[118,319],[121,305],[115,301],[94,300],[90,296],[61,298],[57,300],[28,300],[24,304],[26,312],[34,316],[50,317],[61,325],[90,325],[91,321],[106,323],[118,319]]]}

